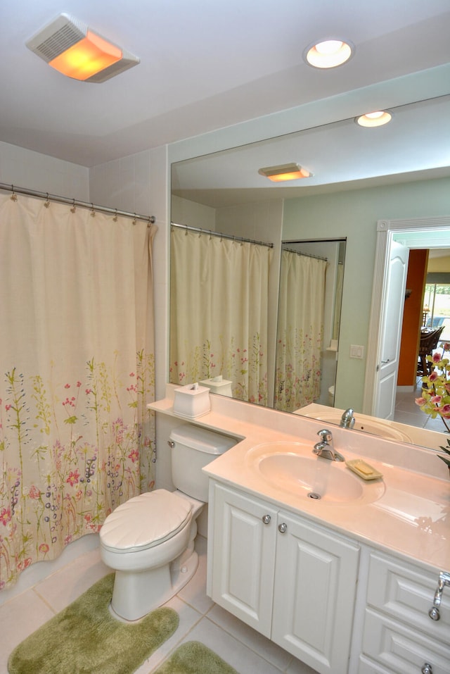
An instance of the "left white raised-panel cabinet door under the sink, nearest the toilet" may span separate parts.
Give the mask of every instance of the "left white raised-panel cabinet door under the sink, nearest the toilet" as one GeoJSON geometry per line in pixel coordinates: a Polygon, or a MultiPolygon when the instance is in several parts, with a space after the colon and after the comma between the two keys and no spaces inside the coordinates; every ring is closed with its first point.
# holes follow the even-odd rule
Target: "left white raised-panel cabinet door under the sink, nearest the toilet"
{"type": "Polygon", "coordinates": [[[276,510],[264,501],[214,485],[212,599],[270,637],[276,510]]]}

